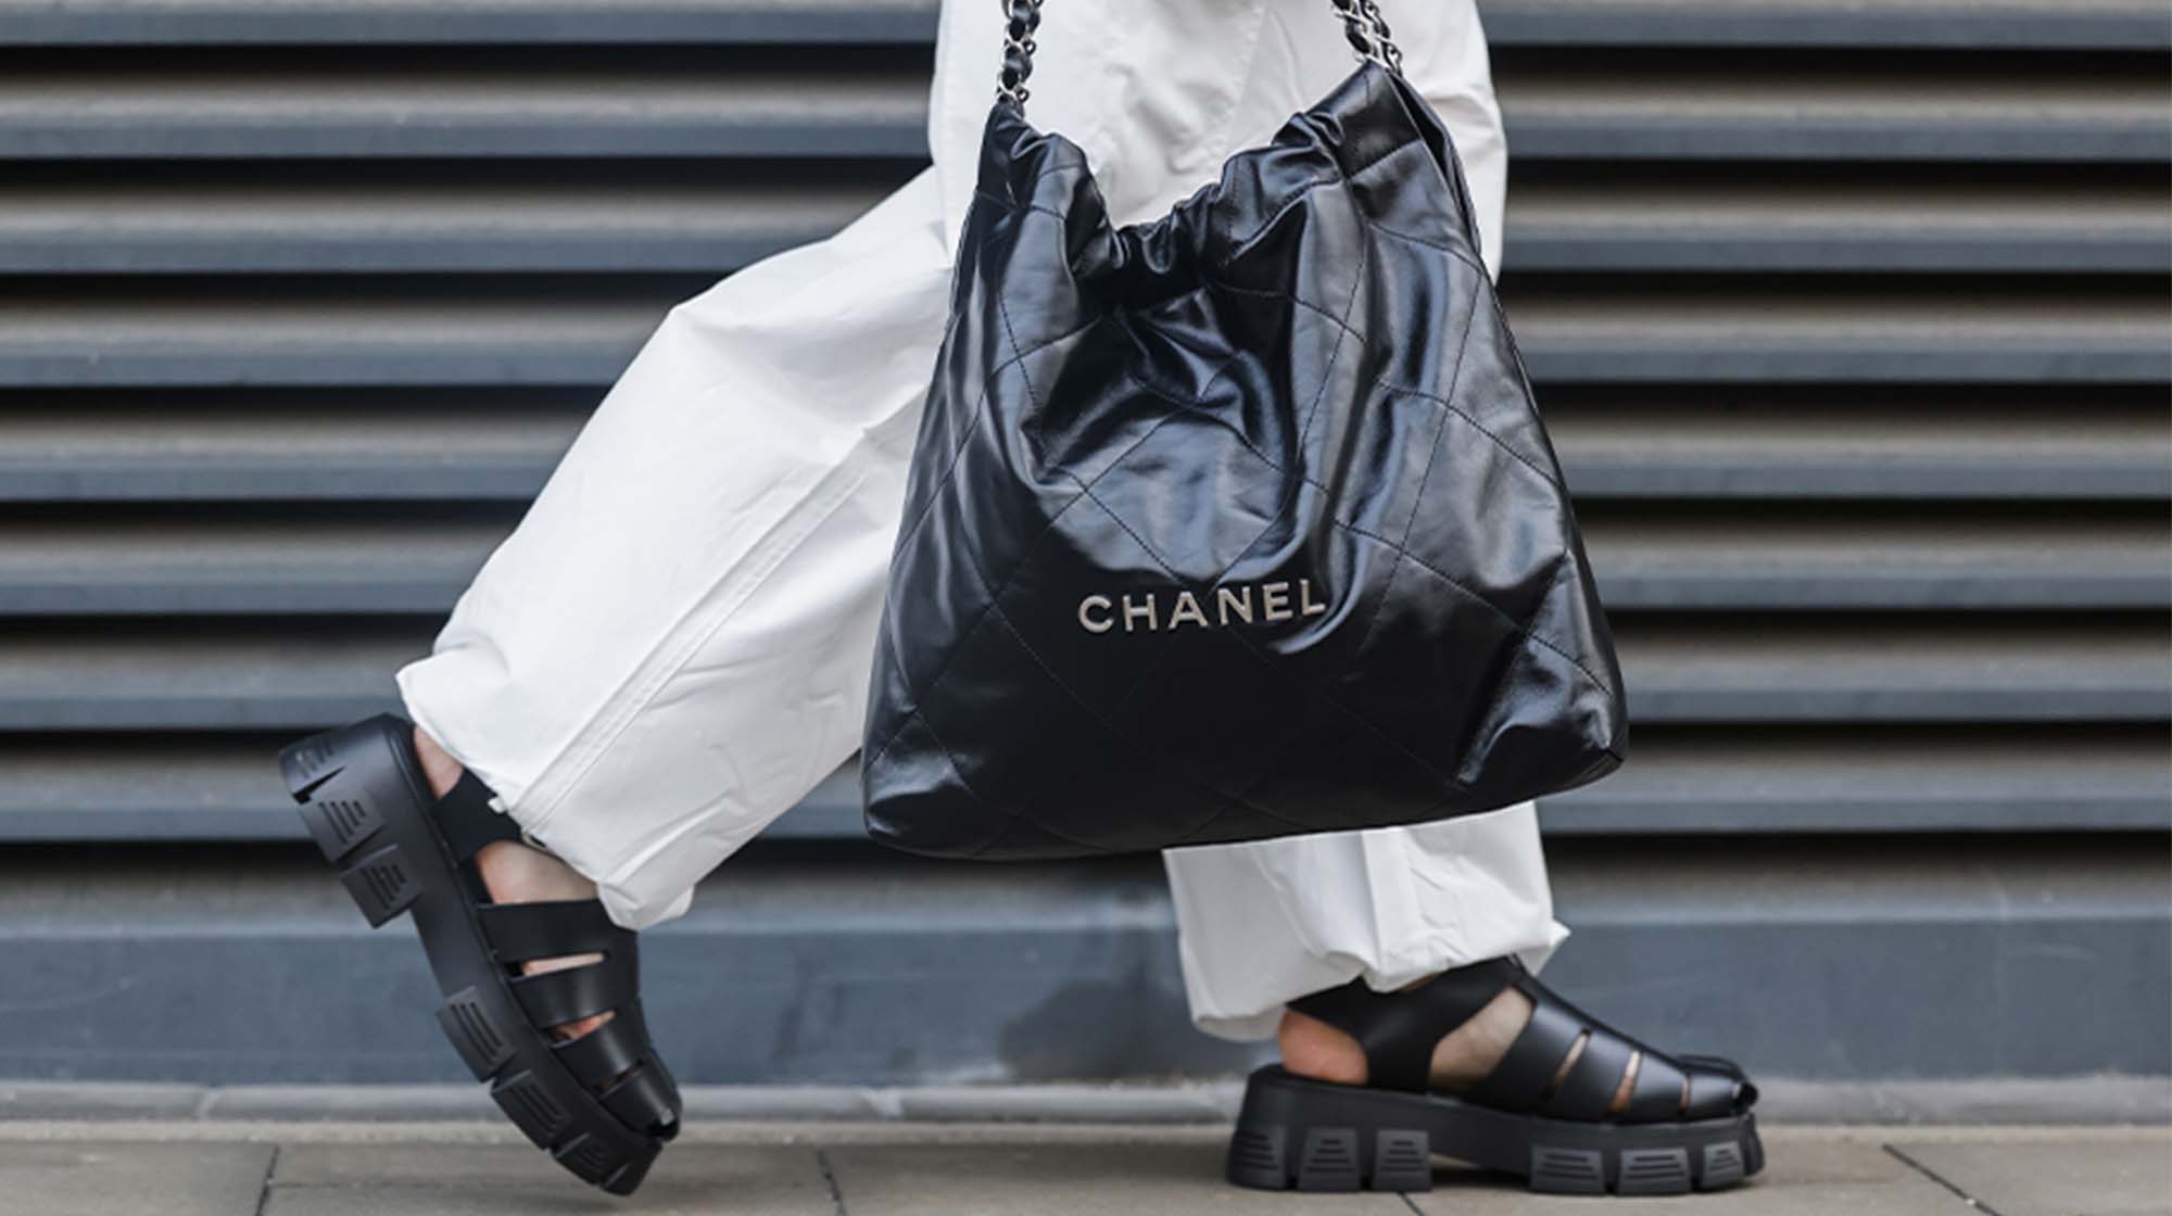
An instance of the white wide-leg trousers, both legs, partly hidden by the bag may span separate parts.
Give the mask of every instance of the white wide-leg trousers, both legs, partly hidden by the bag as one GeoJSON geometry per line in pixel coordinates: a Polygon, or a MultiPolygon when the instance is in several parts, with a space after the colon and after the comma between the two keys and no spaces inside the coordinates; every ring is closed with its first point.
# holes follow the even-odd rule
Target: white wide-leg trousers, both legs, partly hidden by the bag
{"type": "MultiPolygon", "coordinates": [[[[1505,145],[1473,0],[1381,4],[1499,265],[1505,145]]],[[[945,0],[934,167],[673,308],[400,673],[415,721],[621,925],[682,914],[858,745],[1001,28],[995,0],[945,0]]],[[[1355,65],[1329,0],[1056,0],[1038,43],[1027,113],[1088,152],[1116,221],[1205,185],[1355,65]]],[[[1192,1014],[1229,1038],[1355,975],[1536,962],[1566,934],[1529,803],[1166,862],[1192,1014]]]]}

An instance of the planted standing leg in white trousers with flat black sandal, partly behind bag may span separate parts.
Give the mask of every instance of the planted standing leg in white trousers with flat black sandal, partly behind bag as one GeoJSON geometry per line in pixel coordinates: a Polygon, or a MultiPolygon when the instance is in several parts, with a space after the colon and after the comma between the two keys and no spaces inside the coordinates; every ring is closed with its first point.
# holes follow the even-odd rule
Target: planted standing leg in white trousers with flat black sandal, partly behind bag
{"type": "MultiPolygon", "coordinates": [[[[1386,9],[1499,274],[1507,163],[1477,11],[1386,9]]],[[[1425,1190],[1429,1151],[1538,1190],[1714,1190],[1757,1170],[1740,1068],[1653,1051],[1531,975],[1566,936],[1531,803],[1182,849],[1166,869],[1197,1025],[1281,1049],[1247,1086],[1232,1181],[1425,1190]]]]}

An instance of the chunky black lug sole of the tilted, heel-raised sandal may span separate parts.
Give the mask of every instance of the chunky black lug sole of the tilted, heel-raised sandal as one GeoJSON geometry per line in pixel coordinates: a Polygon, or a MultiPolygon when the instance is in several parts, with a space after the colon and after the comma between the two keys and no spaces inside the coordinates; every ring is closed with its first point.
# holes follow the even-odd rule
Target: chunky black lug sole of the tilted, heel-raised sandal
{"type": "Polygon", "coordinates": [[[445,1005],[445,1038],[534,1144],[582,1181],[632,1194],[662,1144],[613,1116],[528,1025],[452,849],[430,816],[430,786],[400,719],[371,719],[280,751],[302,823],[371,927],[413,912],[445,1005]]]}

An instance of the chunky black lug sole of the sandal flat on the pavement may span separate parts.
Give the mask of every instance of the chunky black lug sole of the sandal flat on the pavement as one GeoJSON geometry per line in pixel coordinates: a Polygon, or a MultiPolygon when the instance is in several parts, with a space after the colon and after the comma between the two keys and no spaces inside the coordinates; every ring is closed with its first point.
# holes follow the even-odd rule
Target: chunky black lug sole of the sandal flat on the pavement
{"type": "Polygon", "coordinates": [[[1258,1190],[1431,1190],[1434,1155],[1555,1194],[1722,1190],[1764,1168],[1751,1114],[1575,1123],[1438,1094],[1368,1090],[1266,1066],[1245,1086],[1229,1181],[1258,1190]]]}

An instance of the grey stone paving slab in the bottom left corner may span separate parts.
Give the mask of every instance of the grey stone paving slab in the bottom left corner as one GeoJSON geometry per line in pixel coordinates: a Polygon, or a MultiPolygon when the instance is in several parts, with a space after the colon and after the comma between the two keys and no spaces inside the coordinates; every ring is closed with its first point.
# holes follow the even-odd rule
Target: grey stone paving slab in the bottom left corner
{"type": "Polygon", "coordinates": [[[0,1216],[250,1216],[272,1144],[0,1144],[0,1216]]]}

